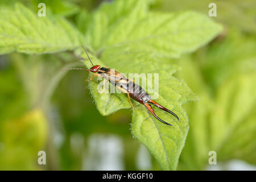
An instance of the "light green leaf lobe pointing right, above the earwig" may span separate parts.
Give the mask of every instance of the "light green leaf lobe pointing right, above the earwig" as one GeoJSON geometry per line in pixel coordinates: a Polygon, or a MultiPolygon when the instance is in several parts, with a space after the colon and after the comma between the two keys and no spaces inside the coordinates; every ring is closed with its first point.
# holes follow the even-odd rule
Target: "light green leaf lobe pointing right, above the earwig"
{"type": "Polygon", "coordinates": [[[220,31],[221,26],[194,12],[148,13],[131,27],[119,23],[102,42],[102,49],[128,49],[154,52],[159,57],[179,57],[203,46],[220,31]],[[119,35],[118,39],[116,35],[119,35]]]}

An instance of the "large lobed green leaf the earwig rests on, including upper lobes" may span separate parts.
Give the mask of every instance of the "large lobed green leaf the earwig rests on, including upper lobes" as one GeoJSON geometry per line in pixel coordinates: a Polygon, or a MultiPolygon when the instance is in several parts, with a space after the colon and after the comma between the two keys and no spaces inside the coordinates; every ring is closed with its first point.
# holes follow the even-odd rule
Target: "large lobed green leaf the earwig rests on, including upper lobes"
{"type": "MultiPolygon", "coordinates": [[[[155,113],[160,118],[174,124],[164,125],[153,118],[146,107],[133,101],[132,133],[150,150],[162,169],[176,169],[187,137],[188,117],[181,105],[198,100],[187,84],[172,76],[180,68],[170,64],[167,57],[195,51],[220,31],[220,25],[197,13],[152,13],[148,11],[148,1],[106,3],[93,15],[86,36],[96,50],[90,54],[93,63],[114,68],[126,76],[141,74],[144,81],[148,81],[148,75],[143,73],[159,73],[159,90],[144,89],[152,91],[151,95],[159,94],[156,102],[173,110],[180,118],[177,122],[176,118],[156,108],[155,113]]],[[[81,56],[87,59],[85,53],[81,56]]],[[[84,63],[87,68],[92,67],[87,60],[84,63]]],[[[139,76],[135,76],[135,80],[137,78],[139,76]]],[[[155,86],[154,79],[152,86],[155,86]]],[[[89,88],[102,115],[131,107],[126,94],[98,93],[99,82],[94,78],[89,88]]]]}

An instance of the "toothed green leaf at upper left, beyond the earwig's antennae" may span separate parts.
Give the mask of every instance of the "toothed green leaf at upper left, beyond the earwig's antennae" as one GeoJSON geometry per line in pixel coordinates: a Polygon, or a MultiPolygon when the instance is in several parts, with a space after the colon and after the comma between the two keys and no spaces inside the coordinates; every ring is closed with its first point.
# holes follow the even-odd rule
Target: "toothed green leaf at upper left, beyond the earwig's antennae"
{"type": "MultiPolygon", "coordinates": [[[[37,13],[37,12],[35,12],[37,13]]],[[[17,3],[0,8],[0,53],[46,53],[74,49],[83,36],[63,18],[39,17],[17,3]]]]}

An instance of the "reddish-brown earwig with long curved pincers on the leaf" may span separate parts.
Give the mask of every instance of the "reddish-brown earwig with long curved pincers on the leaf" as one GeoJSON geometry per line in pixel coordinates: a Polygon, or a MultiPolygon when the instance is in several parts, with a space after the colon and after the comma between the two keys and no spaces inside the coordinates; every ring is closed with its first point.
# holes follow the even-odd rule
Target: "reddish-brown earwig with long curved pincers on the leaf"
{"type": "Polygon", "coordinates": [[[104,91],[104,88],[105,88],[105,82],[109,81],[112,85],[116,86],[123,93],[127,93],[128,100],[129,100],[131,106],[133,107],[133,109],[134,109],[134,105],[131,102],[130,97],[133,98],[135,101],[137,101],[137,102],[143,104],[144,106],[146,106],[146,108],[150,111],[150,113],[156,119],[158,119],[160,122],[162,122],[166,125],[173,126],[172,124],[167,123],[167,122],[163,121],[162,119],[160,119],[155,114],[155,112],[152,109],[152,106],[150,104],[158,107],[159,109],[162,109],[163,111],[166,111],[167,113],[170,113],[170,114],[174,115],[177,118],[177,121],[179,121],[179,117],[177,117],[177,115],[175,113],[166,109],[166,107],[158,104],[157,102],[152,101],[151,96],[141,86],[136,84],[134,81],[129,80],[128,78],[123,76],[121,73],[115,71],[114,69],[101,67],[100,65],[93,65],[92,60],[90,60],[90,57],[89,57],[86,49],[83,46],[82,46],[82,48],[86,52],[86,55],[87,55],[90,63],[92,64],[92,67],[90,69],[69,68],[69,69],[64,69],[63,71],[67,71],[67,70],[71,70],[71,69],[80,69],[80,70],[85,70],[85,71],[92,72],[94,74],[92,75],[92,78],[90,78],[88,81],[91,81],[93,79],[93,76],[103,77],[104,78],[103,91],[104,91]]]}

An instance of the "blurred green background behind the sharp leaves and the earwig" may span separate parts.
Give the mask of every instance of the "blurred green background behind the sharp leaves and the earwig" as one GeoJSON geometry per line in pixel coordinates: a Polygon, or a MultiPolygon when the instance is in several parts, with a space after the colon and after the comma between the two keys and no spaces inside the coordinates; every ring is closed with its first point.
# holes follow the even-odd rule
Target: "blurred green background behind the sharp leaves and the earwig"
{"type": "MultiPolygon", "coordinates": [[[[14,1],[1,1],[1,4],[14,1]]],[[[20,1],[38,10],[42,1],[20,1]]],[[[84,33],[84,15],[102,1],[43,1],[84,33]]],[[[152,10],[208,15],[212,1],[152,1],[152,10]]],[[[224,31],[208,45],[171,63],[200,101],[186,104],[187,142],[177,169],[256,169],[256,2],[214,1],[224,31]],[[217,165],[209,166],[209,151],[217,165]],[[213,167],[214,166],[214,167],[213,167]]],[[[72,52],[0,56],[0,169],[158,170],[130,133],[131,110],[102,117],[90,96],[88,73],[72,52]],[[46,151],[47,164],[38,164],[46,151]]]]}

